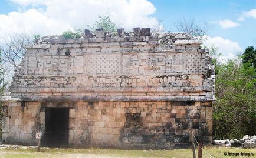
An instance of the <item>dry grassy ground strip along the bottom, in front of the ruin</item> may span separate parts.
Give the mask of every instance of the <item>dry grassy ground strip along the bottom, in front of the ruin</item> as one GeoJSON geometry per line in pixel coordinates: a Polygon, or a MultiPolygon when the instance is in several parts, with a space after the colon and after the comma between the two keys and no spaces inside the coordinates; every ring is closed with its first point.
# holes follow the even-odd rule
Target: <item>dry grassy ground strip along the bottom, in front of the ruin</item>
{"type": "MultiPolygon", "coordinates": [[[[252,157],[256,158],[256,149],[241,149],[228,147],[205,147],[204,150],[213,157],[252,157]],[[254,153],[250,156],[225,156],[224,153],[254,153]]],[[[175,150],[116,150],[116,149],[61,149],[61,148],[43,148],[41,152],[36,149],[0,149],[0,157],[49,157],[49,158],[69,158],[69,157],[90,157],[90,158],[110,158],[110,157],[177,157],[186,158],[193,157],[191,149],[175,149],[175,150]]],[[[211,157],[203,153],[202,157],[211,157]]]]}

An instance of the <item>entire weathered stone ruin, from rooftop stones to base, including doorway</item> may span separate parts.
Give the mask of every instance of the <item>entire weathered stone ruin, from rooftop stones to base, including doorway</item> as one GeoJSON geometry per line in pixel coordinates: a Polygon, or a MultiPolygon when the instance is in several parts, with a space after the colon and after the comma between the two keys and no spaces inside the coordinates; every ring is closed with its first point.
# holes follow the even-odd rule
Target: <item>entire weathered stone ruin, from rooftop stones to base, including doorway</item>
{"type": "Polygon", "coordinates": [[[5,99],[6,143],[170,149],[212,140],[214,70],[201,41],[135,28],[27,47],[5,99]]]}

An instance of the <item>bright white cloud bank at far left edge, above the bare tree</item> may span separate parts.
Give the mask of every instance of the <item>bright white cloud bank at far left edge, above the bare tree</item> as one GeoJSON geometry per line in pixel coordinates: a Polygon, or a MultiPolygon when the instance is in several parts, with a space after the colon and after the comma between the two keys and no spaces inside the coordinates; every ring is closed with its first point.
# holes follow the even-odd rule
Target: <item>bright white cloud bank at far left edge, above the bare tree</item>
{"type": "Polygon", "coordinates": [[[35,9],[29,9],[24,13],[10,12],[8,15],[0,15],[0,37],[17,32],[29,32],[31,35],[52,35],[71,29],[69,25],[61,21],[49,18],[35,9]]]}

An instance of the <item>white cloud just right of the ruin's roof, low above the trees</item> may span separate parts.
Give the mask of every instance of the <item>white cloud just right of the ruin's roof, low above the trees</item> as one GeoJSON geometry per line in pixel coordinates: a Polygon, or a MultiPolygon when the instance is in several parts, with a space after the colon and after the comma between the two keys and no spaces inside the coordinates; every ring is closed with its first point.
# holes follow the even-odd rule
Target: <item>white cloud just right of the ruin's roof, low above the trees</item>
{"type": "Polygon", "coordinates": [[[232,59],[237,55],[238,53],[241,53],[243,49],[237,42],[232,42],[229,39],[223,39],[221,37],[210,37],[210,36],[204,36],[203,38],[203,46],[211,47],[214,46],[217,48],[216,53],[221,53],[221,59],[227,60],[232,59]]]}

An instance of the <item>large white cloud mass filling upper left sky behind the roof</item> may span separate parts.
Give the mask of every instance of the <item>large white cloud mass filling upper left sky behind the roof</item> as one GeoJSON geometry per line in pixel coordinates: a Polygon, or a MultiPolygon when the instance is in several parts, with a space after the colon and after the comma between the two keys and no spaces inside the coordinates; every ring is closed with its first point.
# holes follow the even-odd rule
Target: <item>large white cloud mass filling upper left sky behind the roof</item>
{"type": "Polygon", "coordinates": [[[10,0],[23,12],[0,14],[0,36],[11,32],[54,35],[74,28],[85,29],[98,15],[108,11],[115,23],[124,29],[158,25],[155,6],[147,0],[10,0]],[[37,9],[26,9],[37,6],[37,9]]]}

